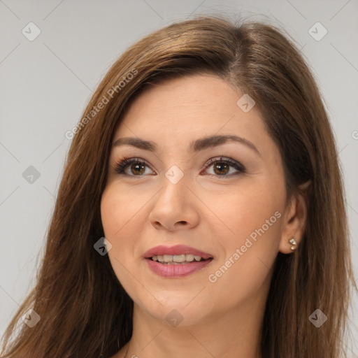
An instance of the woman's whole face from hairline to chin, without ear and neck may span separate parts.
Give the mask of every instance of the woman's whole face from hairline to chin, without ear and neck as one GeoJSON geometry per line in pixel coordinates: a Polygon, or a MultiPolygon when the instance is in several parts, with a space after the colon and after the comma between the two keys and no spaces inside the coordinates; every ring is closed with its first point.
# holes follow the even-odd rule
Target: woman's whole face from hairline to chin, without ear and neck
{"type": "Polygon", "coordinates": [[[157,320],[192,324],[263,304],[289,239],[280,153],[241,96],[215,76],[166,80],[115,130],[101,199],[108,256],[137,308],[157,320]],[[141,162],[116,171],[124,157],[141,162]]]}

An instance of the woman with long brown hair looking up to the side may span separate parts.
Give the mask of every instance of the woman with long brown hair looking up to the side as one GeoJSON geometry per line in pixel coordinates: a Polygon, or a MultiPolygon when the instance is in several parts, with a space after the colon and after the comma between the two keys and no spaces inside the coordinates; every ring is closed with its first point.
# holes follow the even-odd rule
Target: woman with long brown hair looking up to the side
{"type": "Polygon", "coordinates": [[[201,16],[150,34],[66,136],[43,264],[2,357],[344,356],[336,145],[278,29],[201,16]]]}

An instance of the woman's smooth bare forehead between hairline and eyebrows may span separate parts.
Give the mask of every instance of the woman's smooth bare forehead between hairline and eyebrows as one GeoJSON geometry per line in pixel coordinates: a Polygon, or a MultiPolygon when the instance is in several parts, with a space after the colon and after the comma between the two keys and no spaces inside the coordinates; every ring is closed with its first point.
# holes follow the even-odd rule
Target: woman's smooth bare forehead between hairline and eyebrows
{"type": "MultiPolygon", "coordinates": [[[[255,141],[269,140],[255,106],[245,113],[243,96],[217,76],[196,75],[164,80],[146,88],[127,108],[113,141],[137,136],[159,147],[184,145],[203,136],[232,134],[255,141]]],[[[267,150],[267,148],[262,148],[267,150]]]]}

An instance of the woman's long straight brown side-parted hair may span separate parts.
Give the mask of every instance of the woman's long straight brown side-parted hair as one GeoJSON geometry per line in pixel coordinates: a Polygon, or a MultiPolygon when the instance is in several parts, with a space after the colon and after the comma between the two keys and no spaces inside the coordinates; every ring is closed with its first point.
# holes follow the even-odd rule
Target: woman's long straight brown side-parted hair
{"type": "Polygon", "coordinates": [[[278,254],[262,327],[263,357],[344,355],[350,287],[345,199],[337,150],[315,80],[296,45],[271,24],[219,15],[171,24],[131,46],[85,108],[66,159],[37,282],[3,336],[2,357],[110,357],[131,338],[133,301],[108,259],[100,201],[113,131],[149,83],[210,73],[249,94],[277,143],[287,191],[311,181],[298,250],[278,254]],[[102,103],[102,105],[99,105],[102,103]],[[33,308],[41,320],[21,320],[33,308]],[[320,328],[308,317],[328,320],[320,328]]]}

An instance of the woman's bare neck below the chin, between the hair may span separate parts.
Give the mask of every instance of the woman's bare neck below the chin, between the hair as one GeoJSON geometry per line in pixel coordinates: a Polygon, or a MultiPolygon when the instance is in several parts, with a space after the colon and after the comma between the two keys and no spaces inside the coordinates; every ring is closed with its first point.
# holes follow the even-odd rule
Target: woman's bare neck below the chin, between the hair
{"type": "Polygon", "coordinates": [[[261,358],[261,327],[265,302],[241,304],[229,313],[217,313],[201,322],[171,327],[134,304],[133,335],[124,357],[261,358]]]}

